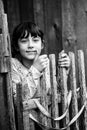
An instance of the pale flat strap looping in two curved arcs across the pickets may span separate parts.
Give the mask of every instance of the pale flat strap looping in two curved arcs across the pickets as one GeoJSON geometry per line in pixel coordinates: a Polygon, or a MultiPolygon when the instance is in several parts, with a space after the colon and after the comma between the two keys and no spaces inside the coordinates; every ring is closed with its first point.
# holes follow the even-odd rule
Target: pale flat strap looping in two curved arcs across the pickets
{"type": "MultiPolygon", "coordinates": [[[[71,95],[72,95],[72,93],[71,93],[71,91],[70,91],[69,94],[68,94],[68,97],[67,97],[67,99],[68,99],[68,100],[67,100],[67,105],[68,105],[67,108],[69,108],[69,105],[70,105],[70,102],[71,102],[71,97],[72,97],[71,95]]],[[[87,99],[87,94],[86,94],[86,99],[87,99]]],[[[39,108],[39,110],[40,110],[45,116],[47,116],[47,117],[53,119],[54,121],[59,121],[59,120],[63,119],[63,118],[66,116],[67,109],[66,109],[65,113],[64,113],[62,116],[57,117],[57,118],[53,118],[53,117],[51,117],[51,115],[45,110],[45,108],[43,108],[43,106],[42,106],[40,103],[37,102],[37,100],[34,100],[34,101],[35,101],[37,107],[39,108]]],[[[73,117],[73,119],[72,119],[65,127],[63,127],[63,128],[52,128],[52,127],[48,127],[48,126],[46,126],[46,125],[43,125],[43,124],[40,123],[31,113],[29,114],[29,118],[32,119],[34,122],[36,122],[43,130],[65,130],[65,129],[67,129],[68,127],[70,127],[70,126],[80,117],[80,115],[82,114],[82,112],[83,112],[85,106],[86,106],[86,100],[85,100],[85,102],[84,102],[84,105],[81,107],[80,111],[79,111],[79,112],[73,117]]]]}

